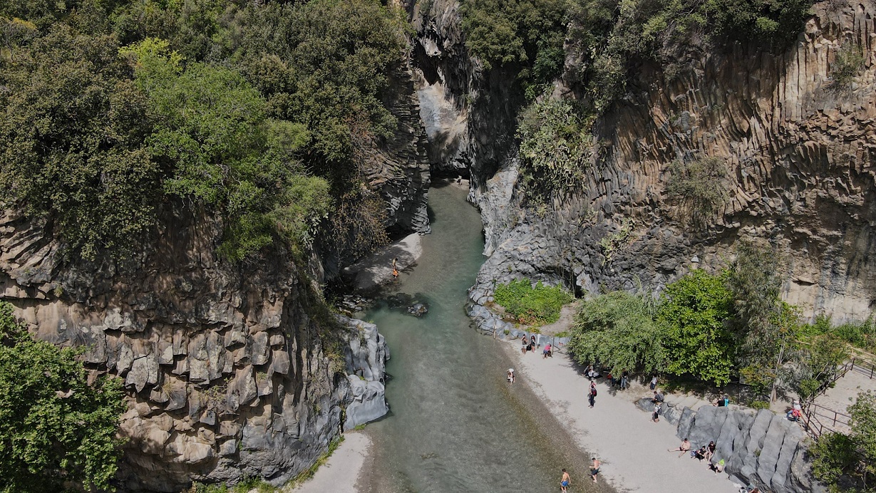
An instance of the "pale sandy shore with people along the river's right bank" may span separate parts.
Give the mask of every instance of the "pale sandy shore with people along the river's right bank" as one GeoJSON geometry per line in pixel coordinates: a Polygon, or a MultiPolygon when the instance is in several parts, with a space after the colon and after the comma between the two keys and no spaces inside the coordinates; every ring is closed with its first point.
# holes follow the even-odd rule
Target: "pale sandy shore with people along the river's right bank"
{"type": "MultiPolygon", "coordinates": [[[[653,423],[633,404],[636,398],[647,397],[647,389],[610,391],[607,385],[597,384],[596,405],[590,409],[589,382],[569,356],[543,359],[540,351],[522,355],[516,342],[501,345],[516,362],[515,385],[530,385],[579,447],[603,462],[600,481],[608,481],[618,491],[738,491],[727,475],[716,475],[704,461],[667,451],[681,442],[675,437],[675,426],[664,420],[653,423]]],[[[573,478],[573,485],[583,481],[590,478],[573,478]]],[[[575,490],[582,489],[570,489],[575,490]]]]}

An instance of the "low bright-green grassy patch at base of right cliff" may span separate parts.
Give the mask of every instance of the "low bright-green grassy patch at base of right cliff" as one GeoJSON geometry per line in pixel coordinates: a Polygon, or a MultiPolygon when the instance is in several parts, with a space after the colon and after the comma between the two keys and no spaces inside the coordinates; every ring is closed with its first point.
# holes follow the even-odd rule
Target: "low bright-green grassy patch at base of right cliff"
{"type": "Polygon", "coordinates": [[[562,306],[575,298],[562,287],[519,279],[497,285],[493,299],[519,323],[538,326],[559,320],[562,306]]]}

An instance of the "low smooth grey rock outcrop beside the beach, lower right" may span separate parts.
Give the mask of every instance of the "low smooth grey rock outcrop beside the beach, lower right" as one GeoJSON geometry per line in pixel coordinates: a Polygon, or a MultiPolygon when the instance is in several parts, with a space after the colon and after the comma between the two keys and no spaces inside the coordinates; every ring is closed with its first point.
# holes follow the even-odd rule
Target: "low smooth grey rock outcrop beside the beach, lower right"
{"type": "MultiPolygon", "coordinates": [[[[653,405],[648,411],[653,411],[653,405]]],[[[741,482],[776,493],[827,491],[812,477],[806,434],[796,423],[766,409],[706,405],[696,412],[684,408],[677,414],[678,437],[689,439],[695,449],[715,441],[711,461],[723,459],[724,471],[741,482]]]]}

